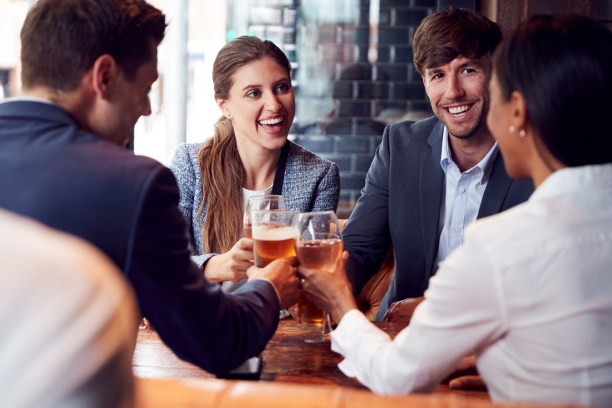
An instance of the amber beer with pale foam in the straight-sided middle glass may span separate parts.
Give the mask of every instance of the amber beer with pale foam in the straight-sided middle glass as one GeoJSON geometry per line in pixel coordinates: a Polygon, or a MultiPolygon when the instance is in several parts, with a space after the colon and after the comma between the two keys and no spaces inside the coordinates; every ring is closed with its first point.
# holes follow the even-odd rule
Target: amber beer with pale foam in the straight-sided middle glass
{"type": "Polygon", "coordinates": [[[275,259],[296,256],[296,229],[294,227],[268,227],[252,229],[255,266],[268,265],[275,259]]]}

